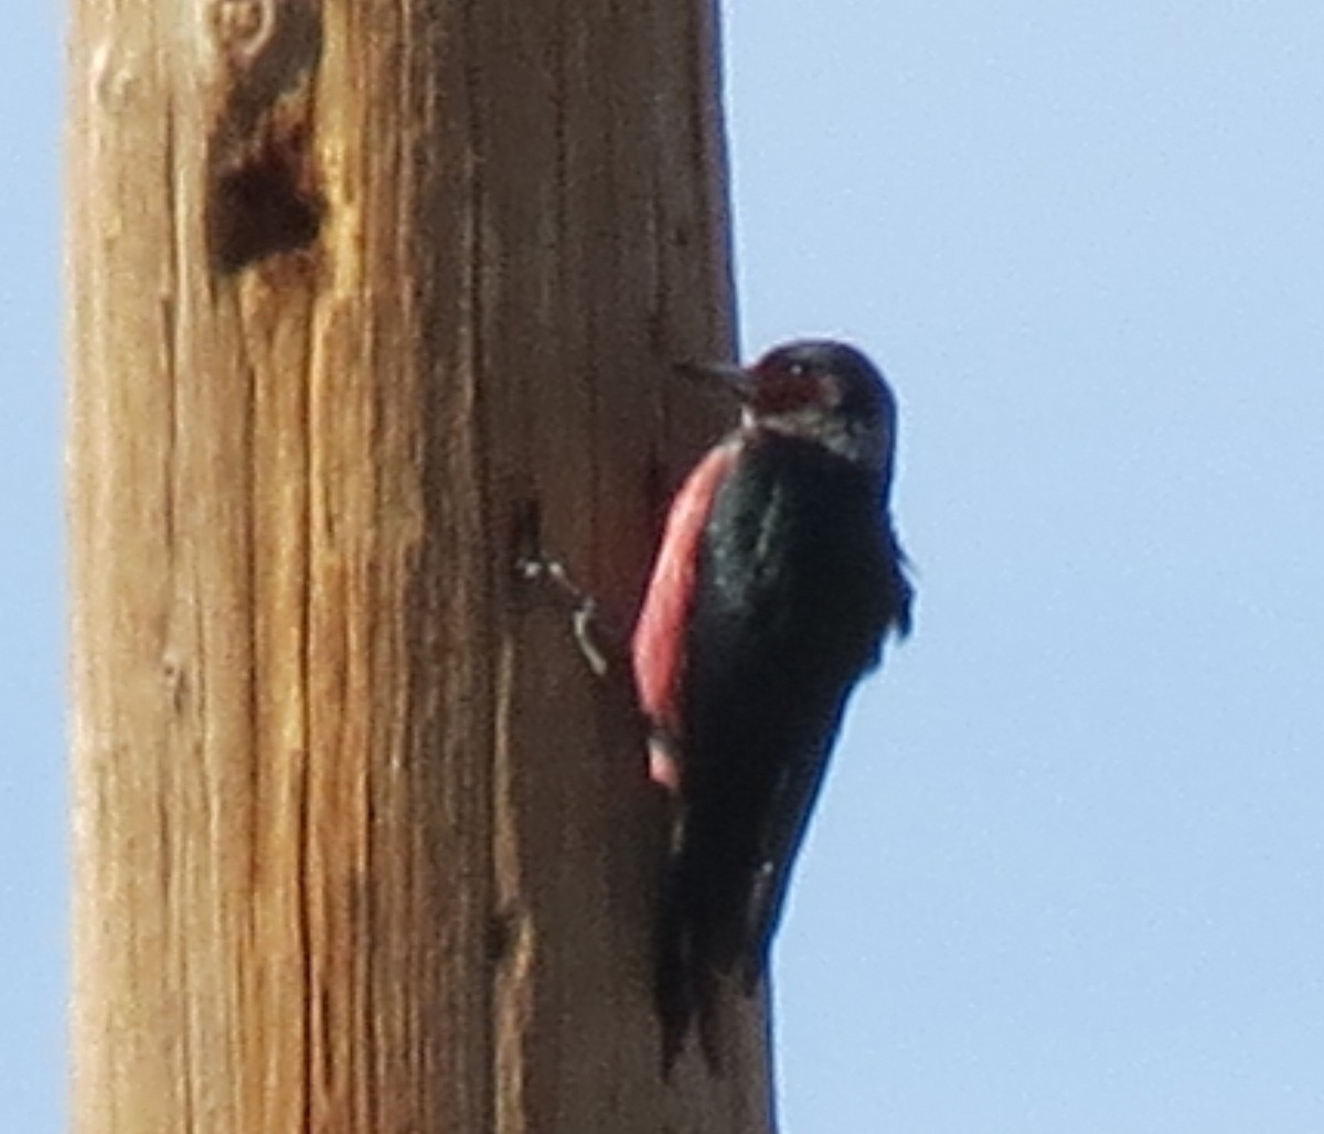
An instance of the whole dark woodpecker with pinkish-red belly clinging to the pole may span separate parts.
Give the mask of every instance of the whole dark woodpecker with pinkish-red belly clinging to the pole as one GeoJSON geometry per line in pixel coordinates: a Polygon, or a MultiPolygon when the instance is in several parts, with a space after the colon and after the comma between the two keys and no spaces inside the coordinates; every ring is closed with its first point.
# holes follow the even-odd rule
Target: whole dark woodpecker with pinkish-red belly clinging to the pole
{"type": "MultiPolygon", "coordinates": [[[[896,401],[859,351],[682,368],[741,406],[671,503],[632,638],[649,774],[674,803],[657,996],[667,1068],[715,990],[752,994],[851,689],[911,622],[888,498],[896,401]]],[[[711,1024],[711,1027],[710,1027],[711,1024]]]]}

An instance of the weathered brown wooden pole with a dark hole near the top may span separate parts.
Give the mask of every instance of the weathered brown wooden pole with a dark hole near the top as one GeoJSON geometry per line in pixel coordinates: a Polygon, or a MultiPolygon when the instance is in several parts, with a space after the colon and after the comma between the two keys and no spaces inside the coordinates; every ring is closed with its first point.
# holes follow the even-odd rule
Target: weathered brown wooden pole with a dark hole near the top
{"type": "Polygon", "coordinates": [[[659,1073],[628,618],[726,355],[710,0],[74,0],[74,1114],[763,1131],[659,1073]]]}

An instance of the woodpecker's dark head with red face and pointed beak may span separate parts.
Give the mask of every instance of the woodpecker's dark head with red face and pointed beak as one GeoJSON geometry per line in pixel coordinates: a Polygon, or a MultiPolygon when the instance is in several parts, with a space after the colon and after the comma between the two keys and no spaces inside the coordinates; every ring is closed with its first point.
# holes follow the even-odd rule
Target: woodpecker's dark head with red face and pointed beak
{"type": "Polygon", "coordinates": [[[719,378],[740,400],[745,429],[816,441],[850,460],[890,471],[896,400],[865,355],[831,339],[773,347],[751,367],[686,365],[719,378]]]}

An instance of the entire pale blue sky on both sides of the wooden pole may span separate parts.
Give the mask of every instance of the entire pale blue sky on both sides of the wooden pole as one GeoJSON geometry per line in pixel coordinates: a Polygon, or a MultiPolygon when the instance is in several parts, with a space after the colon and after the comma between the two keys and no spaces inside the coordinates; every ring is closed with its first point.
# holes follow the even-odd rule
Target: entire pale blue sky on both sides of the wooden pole
{"type": "MultiPolygon", "coordinates": [[[[60,19],[0,37],[0,1129],[62,1126],[60,19]]],[[[732,0],[743,340],[902,401],[916,634],[777,950],[784,1125],[1324,1130],[1324,7],[732,0]]]]}

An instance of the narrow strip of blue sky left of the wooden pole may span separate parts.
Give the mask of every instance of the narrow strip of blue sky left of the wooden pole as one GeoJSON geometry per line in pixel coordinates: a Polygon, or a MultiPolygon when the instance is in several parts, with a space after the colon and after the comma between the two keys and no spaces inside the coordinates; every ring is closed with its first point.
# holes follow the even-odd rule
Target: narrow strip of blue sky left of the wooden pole
{"type": "Polygon", "coordinates": [[[0,34],[0,1130],[64,1129],[60,5],[0,34]]]}

